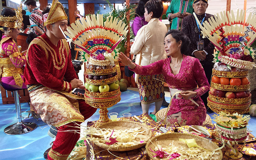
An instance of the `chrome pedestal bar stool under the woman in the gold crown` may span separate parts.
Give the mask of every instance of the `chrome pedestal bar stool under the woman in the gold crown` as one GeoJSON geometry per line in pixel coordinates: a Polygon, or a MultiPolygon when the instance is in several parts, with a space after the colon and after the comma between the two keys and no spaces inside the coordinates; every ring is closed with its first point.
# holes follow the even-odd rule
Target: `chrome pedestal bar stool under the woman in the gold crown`
{"type": "MultiPolygon", "coordinates": [[[[3,87],[2,82],[0,82],[0,85],[3,87]]],[[[3,87],[4,88],[4,87],[3,87]]],[[[5,89],[5,88],[4,88],[5,89]]],[[[18,134],[24,134],[33,131],[36,129],[37,124],[32,123],[32,122],[22,122],[21,118],[27,119],[30,118],[28,117],[23,117],[21,116],[21,113],[30,113],[29,111],[20,111],[20,95],[18,94],[18,90],[7,90],[6,91],[12,91],[14,101],[15,101],[15,108],[16,108],[16,118],[17,118],[17,123],[9,125],[4,129],[4,133],[9,134],[9,135],[18,135],[18,134]]]]}

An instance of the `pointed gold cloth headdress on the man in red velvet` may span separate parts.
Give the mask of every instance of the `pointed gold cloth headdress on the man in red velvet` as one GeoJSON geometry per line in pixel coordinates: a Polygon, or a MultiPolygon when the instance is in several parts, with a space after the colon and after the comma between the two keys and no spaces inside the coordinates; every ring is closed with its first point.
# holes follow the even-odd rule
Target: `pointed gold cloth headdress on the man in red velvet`
{"type": "Polygon", "coordinates": [[[68,16],[64,11],[62,4],[58,0],[52,1],[52,7],[48,14],[47,20],[44,22],[44,26],[52,24],[60,20],[67,20],[68,16]]]}

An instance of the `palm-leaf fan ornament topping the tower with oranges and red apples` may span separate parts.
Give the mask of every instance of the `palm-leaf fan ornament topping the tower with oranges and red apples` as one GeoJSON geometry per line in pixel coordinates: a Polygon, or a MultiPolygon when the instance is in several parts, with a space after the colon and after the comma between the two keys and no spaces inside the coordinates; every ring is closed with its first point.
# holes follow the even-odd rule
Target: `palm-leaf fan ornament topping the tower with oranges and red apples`
{"type": "Polygon", "coordinates": [[[246,21],[245,12],[237,10],[236,16],[233,10],[227,14],[226,11],[217,13],[208,19],[209,22],[204,21],[204,27],[193,13],[203,37],[207,37],[216,47],[213,62],[221,61],[243,69],[255,67],[255,50],[250,46],[256,38],[256,15],[250,12],[246,21]]]}

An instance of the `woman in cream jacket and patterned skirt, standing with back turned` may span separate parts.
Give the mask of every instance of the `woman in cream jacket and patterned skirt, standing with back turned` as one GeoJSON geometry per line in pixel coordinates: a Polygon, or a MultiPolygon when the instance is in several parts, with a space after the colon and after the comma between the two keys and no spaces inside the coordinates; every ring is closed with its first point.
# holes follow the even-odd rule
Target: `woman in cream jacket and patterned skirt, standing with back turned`
{"type": "MultiPolygon", "coordinates": [[[[145,4],[144,17],[148,24],[139,29],[130,52],[136,54],[136,64],[146,66],[167,58],[163,43],[167,27],[159,21],[163,10],[163,3],[160,0],[150,0],[145,4]]],[[[163,80],[162,75],[135,74],[143,113],[148,113],[150,104],[155,102],[155,109],[152,112],[155,114],[161,108],[164,99],[164,84],[154,78],[163,80]]]]}

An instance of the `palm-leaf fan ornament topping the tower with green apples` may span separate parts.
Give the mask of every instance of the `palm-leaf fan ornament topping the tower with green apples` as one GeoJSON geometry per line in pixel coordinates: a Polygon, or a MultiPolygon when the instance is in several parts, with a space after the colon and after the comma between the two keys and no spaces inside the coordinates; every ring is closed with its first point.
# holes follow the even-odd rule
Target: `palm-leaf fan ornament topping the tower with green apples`
{"type": "Polygon", "coordinates": [[[111,53],[114,59],[117,59],[116,47],[128,32],[128,26],[122,20],[109,16],[103,22],[102,14],[88,15],[86,20],[84,17],[80,18],[72,23],[71,27],[67,28],[65,34],[84,51],[81,53],[84,61],[87,61],[90,56],[97,56],[104,52],[111,53]]]}

